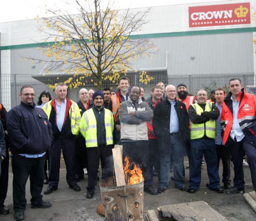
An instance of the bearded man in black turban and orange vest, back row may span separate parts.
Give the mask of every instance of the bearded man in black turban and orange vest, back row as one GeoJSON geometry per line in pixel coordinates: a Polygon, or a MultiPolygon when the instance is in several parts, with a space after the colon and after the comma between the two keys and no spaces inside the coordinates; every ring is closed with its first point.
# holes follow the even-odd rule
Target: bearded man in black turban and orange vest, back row
{"type": "MultiPolygon", "coordinates": [[[[187,92],[187,87],[185,84],[179,84],[177,86],[177,92],[178,92],[178,97],[177,100],[181,101],[182,103],[184,103],[186,105],[186,110],[188,110],[189,105],[197,103],[197,99],[196,96],[189,96],[188,92],[187,92]]],[[[188,165],[190,162],[190,134],[188,133],[187,137],[186,137],[186,142],[185,142],[185,148],[186,148],[186,155],[188,158],[188,165]]],[[[189,166],[187,166],[186,168],[188,168],[189,166]]]]}

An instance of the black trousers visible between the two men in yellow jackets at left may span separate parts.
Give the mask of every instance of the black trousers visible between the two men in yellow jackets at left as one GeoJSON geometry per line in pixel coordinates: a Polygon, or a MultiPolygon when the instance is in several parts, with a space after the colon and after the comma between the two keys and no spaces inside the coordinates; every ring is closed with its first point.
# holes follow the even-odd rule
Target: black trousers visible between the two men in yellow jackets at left
{"type": "Polygon", "coordinates": [[[87,168],[88,161],[87,161],[87,150],[85,146],[85,139],[80,134],[75,139],[75,145],[76,145],[76,160],[77,160],[77,166],[78,176],[83,176],[83,168],[87,168]]]}

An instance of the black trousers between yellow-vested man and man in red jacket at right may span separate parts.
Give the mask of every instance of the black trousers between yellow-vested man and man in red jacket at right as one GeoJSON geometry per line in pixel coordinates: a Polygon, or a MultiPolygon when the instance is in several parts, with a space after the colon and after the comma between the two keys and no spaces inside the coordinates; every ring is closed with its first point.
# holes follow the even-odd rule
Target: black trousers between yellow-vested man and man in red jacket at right
{"type": "Polygon", "coordinates": [[[218,170],[220,166],[220,160],[222,161],[223,171],[222,171],[222,183],[225,185],[230,184],[230,153],[229,148],[224,145],[216,144],[217,150],[217,161],[218,161],[218,170]]]}

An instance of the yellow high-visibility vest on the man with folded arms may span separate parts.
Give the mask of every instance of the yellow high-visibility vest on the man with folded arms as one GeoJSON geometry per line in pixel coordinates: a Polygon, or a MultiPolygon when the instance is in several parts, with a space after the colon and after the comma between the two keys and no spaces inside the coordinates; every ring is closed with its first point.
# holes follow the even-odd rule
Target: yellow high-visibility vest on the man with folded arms
{"type": "MultiPolygon", "coordinates": [[[[192,104],[191,106],[196,110],[197,114],[204,112],[204,110],[198,105],[198,103],[192,104]]],[[[211,111],[211,107],[212,107],[212,103],[210,102],[206,103],[205,111],[211,111]]],[[[216,122],[213,120],[209,120],[208,122],[205,122],[205,123],[191,122],[190,127],[191,127],[191,132],[190,132],[191,140],[202,138],[205,133],[208,138],[212,138],[212,139],[215,138],[216,122]]]]}

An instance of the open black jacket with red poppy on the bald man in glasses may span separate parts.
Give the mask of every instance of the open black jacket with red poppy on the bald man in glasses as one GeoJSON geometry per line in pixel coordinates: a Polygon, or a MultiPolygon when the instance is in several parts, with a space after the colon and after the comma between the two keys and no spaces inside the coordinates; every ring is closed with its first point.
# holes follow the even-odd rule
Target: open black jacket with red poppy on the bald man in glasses
{"type": "MultiPolygon", "coordinates": [[[[176,100],[175,110],[179,120],[179,136],[184,147],[184,137],[187,137],[187,133],[189,133],[189,119],[186,105],[176,100]]],[[[170,114],[171,104],[168,99],[156,105],[153,117],[153,129],[161,145],[168,144],[170,140],[170,114]]]]}

